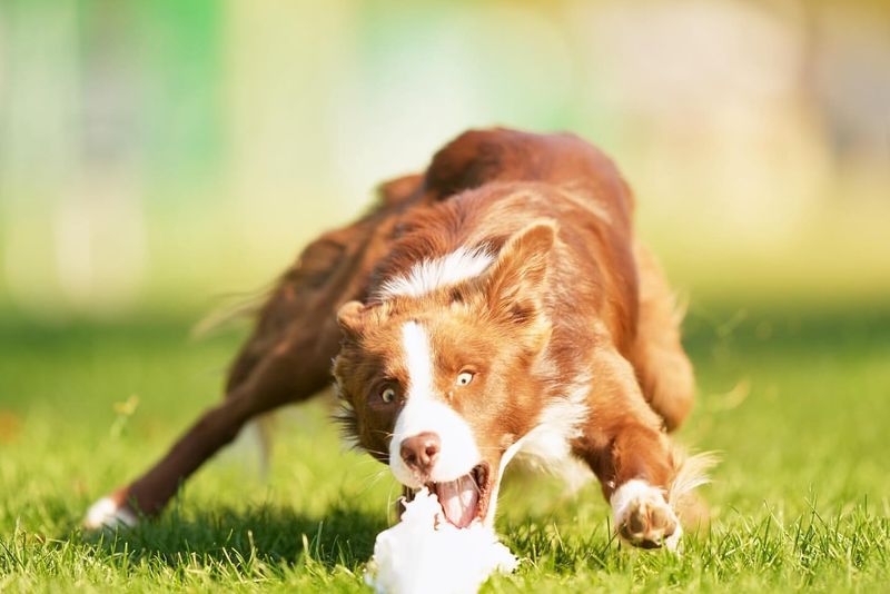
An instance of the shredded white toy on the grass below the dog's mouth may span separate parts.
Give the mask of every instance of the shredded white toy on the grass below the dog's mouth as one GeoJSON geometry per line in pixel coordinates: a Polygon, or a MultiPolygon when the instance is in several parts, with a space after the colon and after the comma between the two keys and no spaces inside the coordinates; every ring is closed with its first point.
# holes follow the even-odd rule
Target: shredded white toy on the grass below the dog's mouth
{"type": "Polygon", "coordinates": [[[467,528],[449,524],[424,487],[405,504],[402,522],[377,535],[365,582],[378,594],[475,593],[492,572],[517,565],[479,521],[467,528]]]}

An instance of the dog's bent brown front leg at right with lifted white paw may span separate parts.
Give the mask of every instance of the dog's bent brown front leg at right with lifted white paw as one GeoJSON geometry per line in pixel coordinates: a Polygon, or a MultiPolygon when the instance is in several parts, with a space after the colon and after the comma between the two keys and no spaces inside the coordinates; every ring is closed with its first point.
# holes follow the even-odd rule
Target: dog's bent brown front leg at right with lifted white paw
{"type": "Polygon", "coordinates": [[[674,461],[660,417],[646,404],[621,355],[595,355],[590,418],[575,453],[596,474],[617,533],[643,548],[675,550],[682,534],[668,501],[674,461]]]}

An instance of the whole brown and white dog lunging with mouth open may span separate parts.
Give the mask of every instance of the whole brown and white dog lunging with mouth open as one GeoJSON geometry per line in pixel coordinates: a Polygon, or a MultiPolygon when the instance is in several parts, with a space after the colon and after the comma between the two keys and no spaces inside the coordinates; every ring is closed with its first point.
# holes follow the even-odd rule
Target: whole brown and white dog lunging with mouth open
{"type": "Polygon", "coordinates": [[[284,274],[222,404],[87,525],[159,512],[247,420],[333,378],[355,443],[457,526],[493,523],[517,454],[576,458],[625,539],[675,547],[675,495],[700,477],[666,432],[693,375],[615,166],[571,135],[469,131],[380,195],[284,274]]]}

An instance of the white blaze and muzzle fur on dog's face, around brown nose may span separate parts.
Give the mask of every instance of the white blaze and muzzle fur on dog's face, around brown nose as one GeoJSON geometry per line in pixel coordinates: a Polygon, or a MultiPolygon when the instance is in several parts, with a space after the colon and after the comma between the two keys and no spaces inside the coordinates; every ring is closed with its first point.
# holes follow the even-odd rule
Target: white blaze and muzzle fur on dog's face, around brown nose
{"type": "Polygon", "coordinates": [[[435,392],[433,349],[424,327],[415,321],[405,324],[402,345],[408,368],[407,399],[393,429],[389,468],[403,485],[422,487],[402,459],[402,442],[418,433],[432,432],[438,434],[441,451],[429,479],[442,483],[459,478],[482,459],[473,432],[435,392]]]}

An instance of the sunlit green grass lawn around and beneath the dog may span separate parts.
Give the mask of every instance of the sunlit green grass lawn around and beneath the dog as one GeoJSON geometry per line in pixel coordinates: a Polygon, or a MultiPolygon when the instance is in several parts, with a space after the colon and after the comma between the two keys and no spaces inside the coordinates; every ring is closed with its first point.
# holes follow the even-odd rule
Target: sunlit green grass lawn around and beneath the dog
{"type": "MultiPolygon", "coordinates": [[[[0,320],[0,591],[363,587],[397,491],[340,451],[322,403],[281,419],[266,479],[245,438],[159,521],[80,532],[95,497],[217,400],[239,336],[186,335],[175,320],[0,320]]],[[[703,489],[710,529],[686,535],[682,557],[622,548],[595,484],[565,497],[516,474],[497,528],[523,563],[487,591],[886,588],[890,310],[694,307],[688,344],[700,398],[679,439],[724,459],[703,489]]]]}

